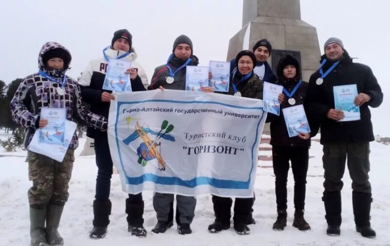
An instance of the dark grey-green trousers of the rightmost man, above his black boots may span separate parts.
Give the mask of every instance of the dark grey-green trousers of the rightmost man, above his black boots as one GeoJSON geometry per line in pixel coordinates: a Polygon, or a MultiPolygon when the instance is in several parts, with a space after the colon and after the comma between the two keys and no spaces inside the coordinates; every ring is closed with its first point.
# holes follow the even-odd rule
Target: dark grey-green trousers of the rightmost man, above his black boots
{"type": "Polygon", "coordinates": [[[334,192],[343,189],[343,178],[347,160],[348,170],[352,179],[352,190],[370,193],[370,143],[335,143],[324,144],[324,188],[334,192]]]}

